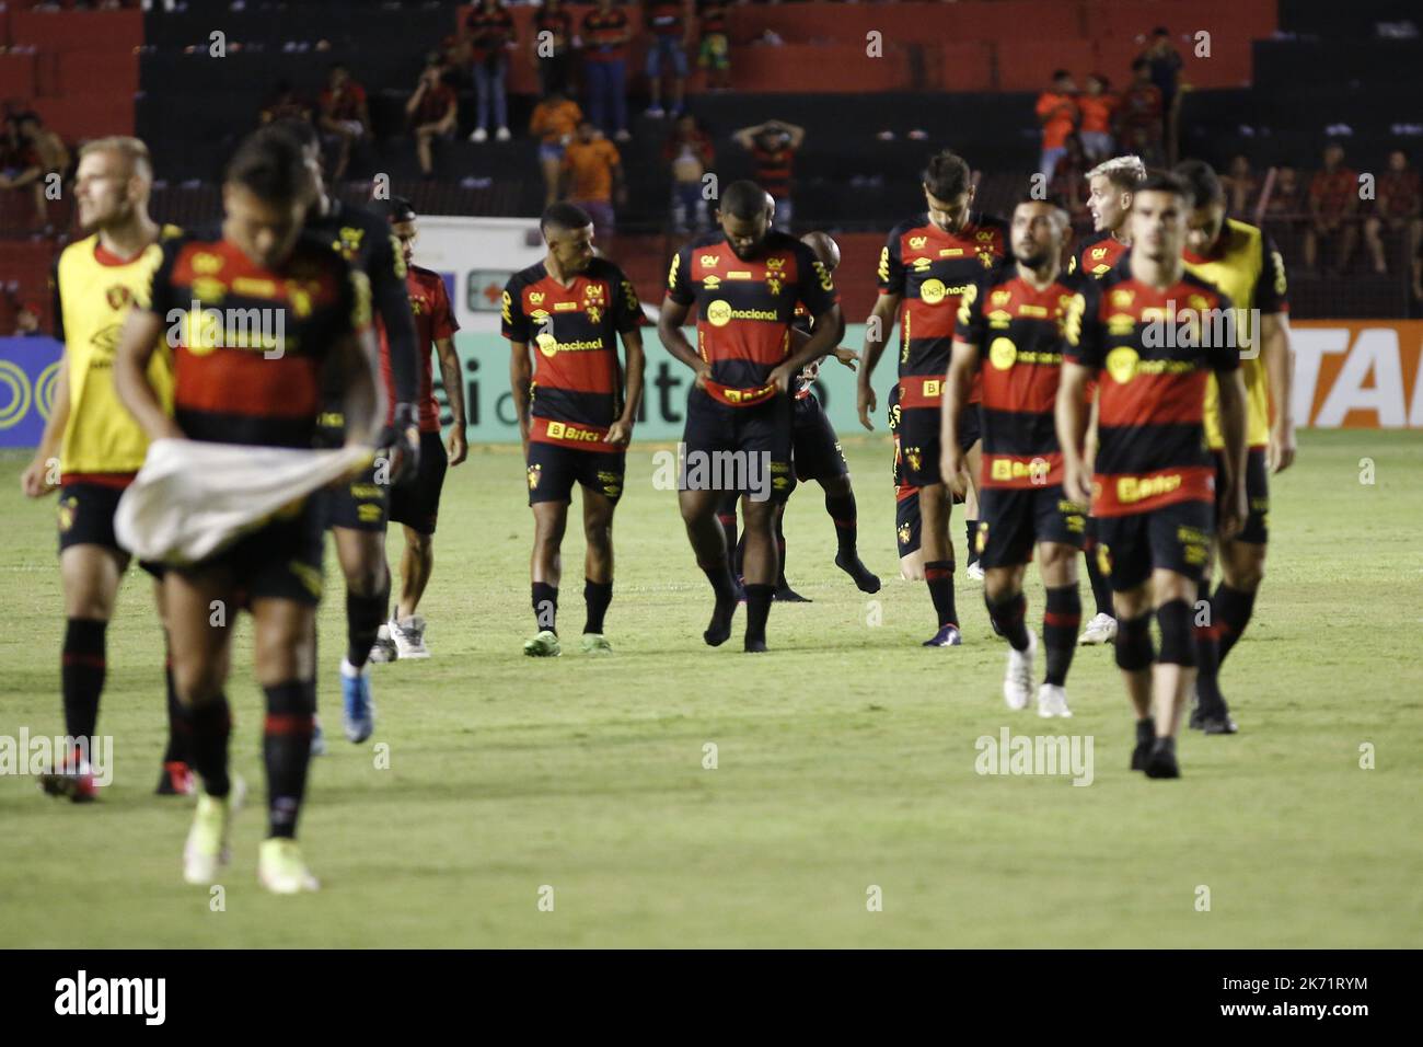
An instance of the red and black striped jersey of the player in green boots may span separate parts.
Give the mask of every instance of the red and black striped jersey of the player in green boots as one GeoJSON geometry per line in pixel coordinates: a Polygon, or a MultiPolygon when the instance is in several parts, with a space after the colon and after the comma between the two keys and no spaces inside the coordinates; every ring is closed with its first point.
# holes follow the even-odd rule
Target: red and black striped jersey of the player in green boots
{"type": "Polygon", "coordinates": [[[638,292],[606,258],[589,262],[569,286],[549,276],[544,262],[509,278],[501,329],[511,342],[536,349],[529,413],[545,423],[535,423],[532,439],[602,449],[623,407],[618,335],[642,322],[638,292]],[[548,422],[556,423],[552,434],[548,422]],[[569,426],[572,437],[565,436],[569,426]]]}

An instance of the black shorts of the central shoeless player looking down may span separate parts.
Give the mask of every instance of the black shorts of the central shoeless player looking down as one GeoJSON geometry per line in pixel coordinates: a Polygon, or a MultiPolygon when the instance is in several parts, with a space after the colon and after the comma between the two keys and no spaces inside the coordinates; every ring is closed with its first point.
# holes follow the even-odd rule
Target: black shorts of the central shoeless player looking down
{"type": "Polygon", "coordinates": [[[791,410],[790,396],[729,407],[693,387],[677,490],[739,491],[784,503],[795,490],[791,410]]]}

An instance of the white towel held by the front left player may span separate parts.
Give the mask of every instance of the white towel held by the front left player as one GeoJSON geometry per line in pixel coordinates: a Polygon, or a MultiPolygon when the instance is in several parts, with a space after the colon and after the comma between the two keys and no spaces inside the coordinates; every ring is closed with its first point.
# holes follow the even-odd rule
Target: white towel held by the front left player
{"type": "Polygon", "coordinates": [[[114,533],[139,560],[196,563],[370,460],[367,447],[154,440],[118,501],[114,533]]]}

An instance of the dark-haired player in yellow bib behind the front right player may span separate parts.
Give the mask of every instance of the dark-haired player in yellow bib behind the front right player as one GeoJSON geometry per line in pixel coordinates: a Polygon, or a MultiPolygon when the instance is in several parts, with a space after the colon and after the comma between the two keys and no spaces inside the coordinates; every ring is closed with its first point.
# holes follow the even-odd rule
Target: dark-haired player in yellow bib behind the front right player
{"type": "MultiPolygon", "coordinates": [[[[1197,624],[1198,702],[1191,726],[1205,734],[1235,734],[1235,721],[1221,694],[1220,664],[1245,631],[1255,608],[1255,594],[1265,575],[1269,540],[1269,473],[1289,469],[1295,460],[1295,417],[1291,409],[1294,358],[1289,346],[1289,302],[1285,262],[1269,236],[1254,225],[1225,217],[1225,192],[1210,165],[1188,160],[1177,165],[1195,197],[1187,219],[1185,269],[1224,291],[1237,305],[1241,338],[1241,373],[1245,377],[1248,454],[1245,496],[1248,513],[1235,536],[1221,536],[1221,584],[1210,595],[1210,620],[1197,624]],[[1257,319],[1259,329],[1255,329],[1257,319]]],[[[1205,442],[1224,472],[1225,437],[1221,430],[1215,383],[1205,386],[1205,442]]],[[[1200,598],[1208,597],[1210,564],[1200,598]]]]}

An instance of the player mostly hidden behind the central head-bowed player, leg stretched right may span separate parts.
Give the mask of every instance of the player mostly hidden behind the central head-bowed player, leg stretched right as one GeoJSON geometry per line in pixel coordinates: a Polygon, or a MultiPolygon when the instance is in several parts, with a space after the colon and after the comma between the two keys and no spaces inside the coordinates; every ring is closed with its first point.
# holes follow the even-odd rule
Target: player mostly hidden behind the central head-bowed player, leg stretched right
{"type": "MultiPolygon", "coordinates": [[[[774,207],[774,199],[771,201],[774,207]]],[[[801,236],[820,259],[821,265],[831,274],[840,268],[840,245],[824,232],[807,232],[801,236]]],[[[801,343],[811,335],[810,318],[804,306],[795,306],[794,333],[791,338],[801,343]]],[[[855,369],[858,355],[852,349],[835,348],[831,353],[837,360],[851,370],[855,369]]],[[[814,383],[820,375],[820,360],[805,365],[805,369],[795,379],[795,395],[791,412],[791,463],[795,467],[797,483],[817,480],[825,491],[825,511],[835,524],[835,567],[848,574],[861,593],[878,593],[879,578],[859,561],[857,548],[859,523],[855,510],[855,491],[850,484],[850,463],[840,449],[835,427],[820,406],[815,397],[814,383]]],[[[731,530],[727,534],[727,547],[736,546],[736,503],[734,491],[727,494],[717,516],[723,527],[730,517],[731,530]]],[[[780,574],[776,578],[774,600],[783,603],[811,603],[807,597],[790,587],[785,581],[785,503],[776,506],[776,551],[778,554],[780,574]]],[[[737,574],[740,574],[743,548],[737,548],[737,574]]]]}

